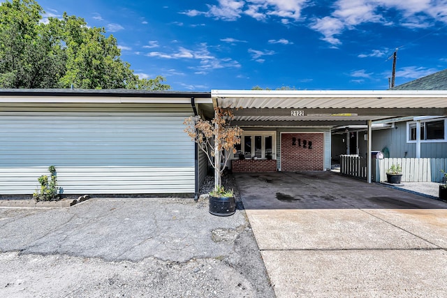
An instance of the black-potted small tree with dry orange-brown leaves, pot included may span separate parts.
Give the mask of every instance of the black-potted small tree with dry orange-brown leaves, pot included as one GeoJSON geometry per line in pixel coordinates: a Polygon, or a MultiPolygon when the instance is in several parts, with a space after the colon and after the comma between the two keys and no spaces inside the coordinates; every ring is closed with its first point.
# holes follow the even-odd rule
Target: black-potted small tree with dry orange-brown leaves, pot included
{"type": "Polygon", "coordinates": [[[200,116],[188,117],[184,121],[184,132],[193,142],[205,152],[208,161],[214,167],[214,189],[210,192],[210,214],[229,216],[235,213],[236,203],[233,191],[222,186],[221,176],[226,169],[231,154],[222,154],[222,151],[235,154],[235,144],[240,144],[242,129],[230,126],[233,119],[231,109],[214,107],[214,118],[210,121],[200,116]]]}

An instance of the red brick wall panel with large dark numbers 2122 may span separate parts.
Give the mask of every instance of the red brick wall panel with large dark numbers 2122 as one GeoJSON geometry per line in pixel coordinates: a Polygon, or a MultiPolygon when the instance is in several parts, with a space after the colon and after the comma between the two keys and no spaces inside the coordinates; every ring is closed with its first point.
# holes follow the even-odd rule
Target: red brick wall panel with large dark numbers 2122
{"type": "Polygon", "coordinates": [[[281,134],[281,171],[323,170],[323,159],[323,133],[281,134]]]}

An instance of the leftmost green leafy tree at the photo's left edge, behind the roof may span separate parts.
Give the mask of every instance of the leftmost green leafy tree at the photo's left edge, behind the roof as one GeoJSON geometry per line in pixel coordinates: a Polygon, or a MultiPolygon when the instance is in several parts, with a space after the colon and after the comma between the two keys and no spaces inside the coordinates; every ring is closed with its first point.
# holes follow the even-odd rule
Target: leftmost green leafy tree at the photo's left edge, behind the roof
{"type": "Polygon", "coordinates": [[[62,56],[53,51],[34,0],[13,0],[0,6],[0,86],[51,88],[64,71],[62,56]],[[62,59],[62,60],[61,60],[62,59]]]}

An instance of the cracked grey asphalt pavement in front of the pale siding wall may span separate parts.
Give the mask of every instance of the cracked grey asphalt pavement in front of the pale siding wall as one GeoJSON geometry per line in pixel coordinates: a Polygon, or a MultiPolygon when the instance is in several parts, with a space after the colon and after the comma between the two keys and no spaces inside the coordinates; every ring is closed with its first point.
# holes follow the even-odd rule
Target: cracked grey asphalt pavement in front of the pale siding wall
{"type": "Polygon", "coordinates": [[[93,198],[0,209],[2,297],[274,297],[244,210],[93,198]]]}

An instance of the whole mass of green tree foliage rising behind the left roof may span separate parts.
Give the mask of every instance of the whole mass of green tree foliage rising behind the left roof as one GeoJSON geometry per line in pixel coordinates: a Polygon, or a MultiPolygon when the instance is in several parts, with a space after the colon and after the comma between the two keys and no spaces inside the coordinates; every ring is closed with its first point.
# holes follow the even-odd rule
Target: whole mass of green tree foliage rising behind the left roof
{"type": "Polygon", "coordinates": [[[167,90],[164,77],[140,79],[103,28],[82,17],[49,17],[35,0],[0,4],[0,88],[167,90]]]}

